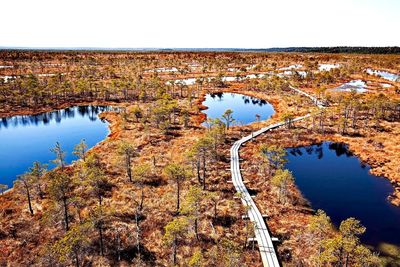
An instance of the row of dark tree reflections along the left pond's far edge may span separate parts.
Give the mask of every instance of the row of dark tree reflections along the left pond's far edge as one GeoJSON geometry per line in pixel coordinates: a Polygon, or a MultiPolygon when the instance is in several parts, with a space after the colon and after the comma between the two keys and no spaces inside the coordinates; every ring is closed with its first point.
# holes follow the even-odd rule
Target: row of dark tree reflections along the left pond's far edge
{"type": "Polygon", "coordinates": [[[97,120],[97,115],[103,111],[112,110],[112,107],[108,106],[78,106],[72,108],[65,108],[61,110],[55,110],[51,112],[40,113],[37,115],[24,115],[24,116],[13,116],[1,118],[0,129],[8,128],[10,125],[13,127],[27,126],[27,125],[44,125],[49,124],[51,121],[60,123],[63,119],[74,118],[75,115],[79,114],[81,117],[88,116],[90,121],[97,120]]]}

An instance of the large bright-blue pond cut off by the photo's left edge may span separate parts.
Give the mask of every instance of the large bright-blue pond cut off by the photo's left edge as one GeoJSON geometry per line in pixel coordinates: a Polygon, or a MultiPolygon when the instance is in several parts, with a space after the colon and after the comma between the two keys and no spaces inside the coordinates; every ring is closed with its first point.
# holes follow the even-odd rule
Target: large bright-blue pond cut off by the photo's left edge
{"type": "MultiPolygon", "coordinates": [[[[104,106],[79,106],[32,116],[0,119],[0,183],[12,187],[16,176],[34,161],[49,164],[56,142],[66,151],[66,161],[76,157],[74,146],[85,139],[94,146],[108,134],[108,125],[98,118],[104,106]]],[[[49,164],[49,167],[54,165],[49,164]]]]}

